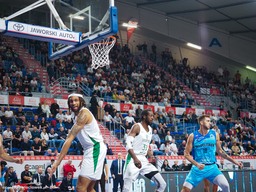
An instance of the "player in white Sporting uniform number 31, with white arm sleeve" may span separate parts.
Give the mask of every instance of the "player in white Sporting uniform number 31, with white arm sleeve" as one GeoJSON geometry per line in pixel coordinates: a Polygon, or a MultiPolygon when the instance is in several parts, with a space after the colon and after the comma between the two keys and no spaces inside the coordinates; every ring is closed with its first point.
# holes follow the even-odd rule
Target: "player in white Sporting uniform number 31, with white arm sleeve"
{"type": "Polygon", "coordinates": [[[148,145],[152,138],[153,112],[149,109],[144,109],[141,112],[139,123],[132,126],[126,139],[126,150],[128,154],[125,159],[124,166],[124,186],[122,192],[129,192],[132,186],[132,181],[135,181],[138,174],[150,179],[156,184],[156,192],[163,192],[166,183],[158,172],[156,167],[151,163],[155,162],[155,157],[151,153],[148,145]],[[147,155],[151,158],[151,163],[148,162],[147,155]]]}

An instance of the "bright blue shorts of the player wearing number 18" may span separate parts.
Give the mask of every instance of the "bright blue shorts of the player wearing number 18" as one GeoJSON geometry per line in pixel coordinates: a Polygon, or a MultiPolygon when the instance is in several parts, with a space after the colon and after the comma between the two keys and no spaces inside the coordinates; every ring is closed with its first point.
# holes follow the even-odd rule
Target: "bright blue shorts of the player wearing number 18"
{"type": "Polygon", "coordinates": [[[199,170],[195,165],[193,165],[185,181],[195,187],[203,179],[207,179],[213,183],[213,180],[217,175],[223,175],[218,169],[217,164],[205,165],[205,168],[202,170],[199,170]]]}

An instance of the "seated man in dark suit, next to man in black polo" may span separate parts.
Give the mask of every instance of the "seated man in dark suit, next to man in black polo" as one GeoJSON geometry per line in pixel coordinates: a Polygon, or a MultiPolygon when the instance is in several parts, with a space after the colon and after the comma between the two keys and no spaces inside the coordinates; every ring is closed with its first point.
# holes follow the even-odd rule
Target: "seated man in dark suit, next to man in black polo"
{"type": "Polygon", "coordinates": [[[32,185],[33,191],[37,191],[37,192],[47,191],[47,192],[49,192],[49,191],[50,191],[50,188],[47,188],[48,190],[47,190],[47,189],[44,189],[44,187],[46,186],[46,184],[45,184],[45,178],[44,178],[44,176],[42,176],[43,169],[42,169],[42,168],[39,168],[39,169],[37,170],[37,173],[32,176],[32,180],[31,180],[32,183],[37,183],[37,184],[33,184],[33,185],[32,185]],[[38,174],[37,174],[37,173],[38,173],[38,174]],[[40,184],[41,184],[41,185],[40,185],[40,184]]]}

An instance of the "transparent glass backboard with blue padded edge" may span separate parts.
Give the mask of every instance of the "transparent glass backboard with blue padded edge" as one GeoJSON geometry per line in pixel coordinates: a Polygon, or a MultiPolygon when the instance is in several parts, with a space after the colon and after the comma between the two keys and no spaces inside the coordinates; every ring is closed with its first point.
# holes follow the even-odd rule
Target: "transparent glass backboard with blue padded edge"
{"type": "MultiPolygon", "coordinates": [[[[81,42],[75,46],[49,42],[51,60],[117,33],[117,10],[113,0],[55,0],[53,5],[65,26],[81,33],[81,42]]],[[[53,15],[51,25],[60,28],[53,15]]]]}

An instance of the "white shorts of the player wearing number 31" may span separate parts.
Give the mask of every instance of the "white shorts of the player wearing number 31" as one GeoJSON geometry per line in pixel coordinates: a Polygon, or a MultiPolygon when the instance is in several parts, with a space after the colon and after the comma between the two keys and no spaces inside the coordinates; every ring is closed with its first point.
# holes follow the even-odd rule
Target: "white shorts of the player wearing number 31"
{"type": "Polygon", "coordinates": [[[145,156],[137,156],[137,158],[141,161],[141,164],[142,164],[142,167],[140,169],[134,165],[133,158],[131,158],[129,154],[126,155],[125,166],[124,166],[124,177],[123,177],[124,179],[129,178],[135,181],[139,174],[141,174],[143,177],[146,177],[145,174],[148,174],[150,172],[155,171],[158,173],[157,168],[151,163],[149,163],[149,161],[145,156]]]}

